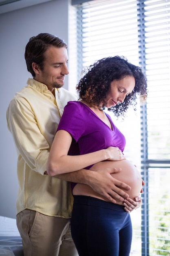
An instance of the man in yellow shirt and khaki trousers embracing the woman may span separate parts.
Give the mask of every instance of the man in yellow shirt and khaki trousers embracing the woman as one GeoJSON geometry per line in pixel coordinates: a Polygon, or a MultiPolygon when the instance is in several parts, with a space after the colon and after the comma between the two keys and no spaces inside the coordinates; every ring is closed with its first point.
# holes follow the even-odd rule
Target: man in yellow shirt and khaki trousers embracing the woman
{"type": "MultiPolygon", "coordinates": [[[[16,93],[7,110],[7,124],[18,152],[17,226],[24,256],[76,256],[71,238],[73,205],[70,183],[85,183],[110,202],[127,198],[119,187],[129,186],[113,179],[110,173],[80,170],[50,177],[46,175],[49,150],[68,101],[77,98],[62,88],[67,69],[67,45],[51,34],[30,38],[25,49],[29,78],[27,86],[16,93]],[[67,181],[65,181],[67,180],[67,181]]],[[[126,211],[140,206],[125,200],[126,211]]]]}

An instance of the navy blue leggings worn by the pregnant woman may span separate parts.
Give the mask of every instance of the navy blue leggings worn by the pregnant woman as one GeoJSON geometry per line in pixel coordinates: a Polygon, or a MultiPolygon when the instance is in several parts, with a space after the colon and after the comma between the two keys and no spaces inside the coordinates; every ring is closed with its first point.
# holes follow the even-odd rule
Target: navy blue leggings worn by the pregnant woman
{"type": "Polygon", "coordinates": [[[122,205],[74,195],[71,234],[79,256],[130,254],[132,224],[122,205]]]}

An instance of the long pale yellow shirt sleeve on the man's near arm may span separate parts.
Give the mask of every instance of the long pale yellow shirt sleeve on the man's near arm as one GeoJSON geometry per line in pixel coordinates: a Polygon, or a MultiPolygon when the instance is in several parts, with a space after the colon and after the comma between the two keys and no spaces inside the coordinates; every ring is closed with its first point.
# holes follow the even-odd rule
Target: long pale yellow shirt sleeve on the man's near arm
{"type": "Polygon", "coordinates": [[[26,99],[13,99],[7,109],[7,126],[13,135],[18,155],[34,171],[44,175],[49,144],[42,135],[35,114],[26,99]]]}

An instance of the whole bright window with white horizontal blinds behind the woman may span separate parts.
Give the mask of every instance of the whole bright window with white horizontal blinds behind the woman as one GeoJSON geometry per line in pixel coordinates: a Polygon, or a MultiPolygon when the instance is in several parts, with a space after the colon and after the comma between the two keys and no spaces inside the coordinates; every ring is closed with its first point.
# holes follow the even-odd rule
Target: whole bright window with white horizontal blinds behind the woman
{"type": "Polygon", "coordinates": [[[140,65],[146,72],[147,103],[137,107],[136,115],[130,110],[124,121],[117,121],[109,114],[126,137],[126,156],[141,168],[145,181],[142,207],[131,213],[131,253],[135,256],[168,256],[170,1],[94,0],[75,5],[75,9],[77,82],[83,67],[107,56],[126,56],[128,61],[140,65]]]}

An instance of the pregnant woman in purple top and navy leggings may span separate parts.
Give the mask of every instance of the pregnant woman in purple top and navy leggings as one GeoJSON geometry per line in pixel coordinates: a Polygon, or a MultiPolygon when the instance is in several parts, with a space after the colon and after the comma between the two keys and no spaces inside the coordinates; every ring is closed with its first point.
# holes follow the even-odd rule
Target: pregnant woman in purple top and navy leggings
{"type": "MultiPolygon", "coordinates": [[[[77,85],[79,101],[68,102],[64,109],[49,155],[48,174],[85,166],[92,171],[121,167],[113,176],[122,181],[126,177],[126,183],[131,182],[130,197],[138,195],[142,180],[122,155],[124,135],[103,110],[107,107],[117,117],[124,115],[136,103],[137,94],[146,98],[146,88],[141,69],[124,57],[108,57],[91,65],[77,85]]],[[[79,256],[128,256],[132,225],[122,202],[107,202],[85,184],[72,184],[72,191],[71,232],[79,256]]]]}

